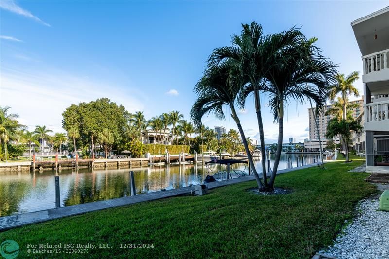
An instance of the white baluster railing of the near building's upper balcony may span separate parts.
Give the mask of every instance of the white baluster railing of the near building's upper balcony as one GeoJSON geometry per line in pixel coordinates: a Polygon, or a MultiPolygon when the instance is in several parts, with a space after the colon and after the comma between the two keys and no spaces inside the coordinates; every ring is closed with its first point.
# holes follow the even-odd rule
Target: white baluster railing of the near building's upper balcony
{"type": "Polygon", "coordinates": [[[363,56],[362,60],[365,75],[389,69],[389,49],[363,56]]]}

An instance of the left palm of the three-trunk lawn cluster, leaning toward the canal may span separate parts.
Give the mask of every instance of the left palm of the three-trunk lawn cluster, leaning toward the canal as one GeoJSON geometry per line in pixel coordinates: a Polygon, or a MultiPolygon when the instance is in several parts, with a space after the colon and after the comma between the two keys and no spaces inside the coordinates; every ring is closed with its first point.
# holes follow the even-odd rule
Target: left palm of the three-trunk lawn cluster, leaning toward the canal
{"type": "Polygon", "coordinates": [[[214,113],[218,119],[225,119],[223,106],[227,105],[231,109],[231,117],[235,121],[246,153],[251,170],[261,190],[263,185],[255,169],[251,153],[248,149],[245,133],[235,110],[235,103],[241,89],[241,77],[235,67],[230,62],[224,62],[218,66],[210,66],[204,72],[195,87],[198,97],[191,109],[191,119],[196,127],[201,125],[201,118],[206,113],[214,113]]]}

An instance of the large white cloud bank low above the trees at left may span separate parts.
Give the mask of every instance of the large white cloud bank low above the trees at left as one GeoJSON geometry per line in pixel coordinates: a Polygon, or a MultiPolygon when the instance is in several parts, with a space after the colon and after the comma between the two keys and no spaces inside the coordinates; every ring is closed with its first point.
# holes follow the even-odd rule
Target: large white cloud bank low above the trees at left
{"type": "Polygon", "coordinates": [[[54,132],[63,131],[62,113],[67,107],[97,98],[107,97],[118,105],[123,104],[129,112],[143,110],[147,103],[133,89],[115,86],[113,82],[75,76],[58,69],[42,71],[1,70],[0,104],[18,113],[19,121],[29,130],[34,130],[36,125],[50,125],[54,132]]]}

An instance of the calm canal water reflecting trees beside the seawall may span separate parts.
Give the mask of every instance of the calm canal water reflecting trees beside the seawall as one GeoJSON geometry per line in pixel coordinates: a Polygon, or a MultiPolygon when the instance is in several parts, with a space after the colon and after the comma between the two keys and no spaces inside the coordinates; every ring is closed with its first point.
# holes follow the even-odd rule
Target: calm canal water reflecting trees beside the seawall
{"type": "MultiPolygon", "coordinates": [[[[279,169],[286,168],[288,158],[296,167],[296,157],[302,160],[302,155],[282,154],[279,169]]],[[[304,155],[304,159],[307,164],[313,162],[312,155],[304,155]]],[[[271,161],[274,161],[274,154],[271,161]]],[[[261,160],[257,159],[254,163],[260,173],[261,160]]],[[[248,166],[244,164],[236,164],[234,169],[248,172],[248,166]]],[[[138,194],[197,185],[208,174],[219,170],[225,170],[225,166],[210,164],[203,167],[199,163],[131,168],[138,194]]],[[[54,208],[56,175],[59,175],[61,206],[129,196],[129,171],[126,168],[0,173],[0,216],[54,208]]]]}

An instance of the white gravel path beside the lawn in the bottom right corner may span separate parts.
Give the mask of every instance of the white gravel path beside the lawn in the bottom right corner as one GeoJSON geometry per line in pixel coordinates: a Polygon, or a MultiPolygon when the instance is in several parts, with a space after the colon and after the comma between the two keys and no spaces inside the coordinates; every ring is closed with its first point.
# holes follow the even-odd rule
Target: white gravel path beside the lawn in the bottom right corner
{"type": "Polygon", "coordinates": [[[389,212],[378,207],[378,198],[361,200],[359,216],[346,226],[333,246],[320,253],[347,259],[389,259],[389,212]]]}

